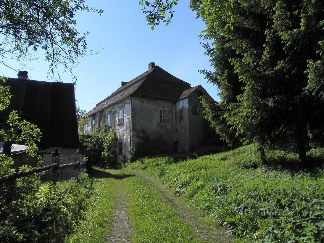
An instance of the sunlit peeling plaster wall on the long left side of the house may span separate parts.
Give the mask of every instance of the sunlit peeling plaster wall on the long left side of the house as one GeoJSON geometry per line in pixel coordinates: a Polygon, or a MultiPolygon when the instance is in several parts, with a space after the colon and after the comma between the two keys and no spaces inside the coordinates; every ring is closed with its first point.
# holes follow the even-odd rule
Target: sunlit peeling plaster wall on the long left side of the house
{"type": "MultiPolygon", "coordinates": [[[[117,140],[117,157],[118,163],[125,163],[130,155],[130,141],[131,141],[131,100],[124,99],[112,106],[107,107],[105,110],[99,111],[94,114],[94,129],[99,125],[103,128],[107,124],[107,114],[111,114],[111,126],[108,127],[108,132],[111,128],[116,129],[117,140]],[[118,120],[118,111],[123,110],[123,121],[118,120]],[[100,121],[100,124],[99,124],[100,121]],[[122,154],[119,154],[118,143],[122,142],[122,154]]],[[[89,117],[91,119],[91,116],[89,117]]]]}

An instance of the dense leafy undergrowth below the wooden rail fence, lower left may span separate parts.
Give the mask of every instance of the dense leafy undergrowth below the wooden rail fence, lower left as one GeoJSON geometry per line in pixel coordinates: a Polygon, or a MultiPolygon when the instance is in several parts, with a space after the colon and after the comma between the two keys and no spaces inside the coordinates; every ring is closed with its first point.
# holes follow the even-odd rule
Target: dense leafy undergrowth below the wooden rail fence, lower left
{"type": "Polygon", "coordinates": [[[0,185],[1,242],[63,242],[83,219],[93,192],[87,174],[81,174],[79,182],[70,179],[57,185],[42,183],[40,177],[34,174],[0,185]]]}

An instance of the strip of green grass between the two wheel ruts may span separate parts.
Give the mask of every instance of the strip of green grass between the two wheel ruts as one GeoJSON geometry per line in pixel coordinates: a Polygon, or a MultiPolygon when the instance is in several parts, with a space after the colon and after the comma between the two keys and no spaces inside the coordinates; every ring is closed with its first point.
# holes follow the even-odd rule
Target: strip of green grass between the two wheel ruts
{"type": "Polygon", "coordinates": [[[132,242],[201,242],[156,189],[136,176],[125,180],[132,242]]]}

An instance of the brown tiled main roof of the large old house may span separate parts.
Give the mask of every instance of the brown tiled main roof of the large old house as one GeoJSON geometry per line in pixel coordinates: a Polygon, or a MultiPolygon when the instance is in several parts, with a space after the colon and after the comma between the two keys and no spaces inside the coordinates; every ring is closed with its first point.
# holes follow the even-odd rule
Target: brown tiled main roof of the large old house
{"type": "Polygon", "coordinates": [[[87,115],[103,110],[129,96],[176,101],[188,88],[191,88],[189,83],[169,74],[159,66],[155,66],[118,88],[99,102],[87,115]]]}

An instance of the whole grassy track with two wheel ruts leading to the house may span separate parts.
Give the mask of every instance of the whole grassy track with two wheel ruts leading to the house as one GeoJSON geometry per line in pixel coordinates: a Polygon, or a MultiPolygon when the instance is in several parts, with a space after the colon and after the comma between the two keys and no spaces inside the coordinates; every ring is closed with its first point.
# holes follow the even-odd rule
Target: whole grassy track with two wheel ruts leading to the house
{"type": "Polygon", "coordinates": [[[97,193],[67,242],[231,242],[169,189],[138,172],[94,170],[97,193]]]}

